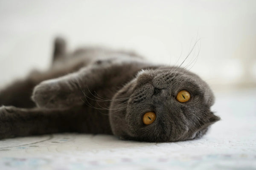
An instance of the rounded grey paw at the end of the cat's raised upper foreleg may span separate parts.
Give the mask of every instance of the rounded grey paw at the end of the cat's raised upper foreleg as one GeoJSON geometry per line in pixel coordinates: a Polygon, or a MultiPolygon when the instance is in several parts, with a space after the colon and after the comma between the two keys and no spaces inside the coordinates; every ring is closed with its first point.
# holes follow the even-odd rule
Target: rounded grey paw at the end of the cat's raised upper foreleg
{"type": "Polygon", "coordinates": [[[57,83],[42,82],[35,86],[32,100],[40,108],[56,108],[59,91],[57,83]]]}

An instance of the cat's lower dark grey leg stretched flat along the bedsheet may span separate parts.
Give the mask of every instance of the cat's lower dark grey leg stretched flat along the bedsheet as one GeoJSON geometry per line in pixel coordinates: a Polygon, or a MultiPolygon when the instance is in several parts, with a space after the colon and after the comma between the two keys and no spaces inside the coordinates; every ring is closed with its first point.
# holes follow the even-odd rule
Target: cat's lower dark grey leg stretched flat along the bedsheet
{"type": "Polygon", "coordinates": [[[0,107],[0,139],[62,132],[112,133],[108,114],[84,106],[68,110],[0,107]]]}

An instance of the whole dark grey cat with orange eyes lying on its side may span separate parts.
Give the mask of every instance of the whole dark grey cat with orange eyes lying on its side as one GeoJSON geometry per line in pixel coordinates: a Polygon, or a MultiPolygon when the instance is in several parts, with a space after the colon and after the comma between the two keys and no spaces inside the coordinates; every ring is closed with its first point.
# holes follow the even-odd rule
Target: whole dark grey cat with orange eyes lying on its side
{"type": "Polygon", "coordinates": [[[213,103],[207,83],[184,68],[108,48],[68,53],[57,38],[48,71],[32,71],[0,91],[0,139],[63,132],[197,139],[220,120],[213,103]]]}

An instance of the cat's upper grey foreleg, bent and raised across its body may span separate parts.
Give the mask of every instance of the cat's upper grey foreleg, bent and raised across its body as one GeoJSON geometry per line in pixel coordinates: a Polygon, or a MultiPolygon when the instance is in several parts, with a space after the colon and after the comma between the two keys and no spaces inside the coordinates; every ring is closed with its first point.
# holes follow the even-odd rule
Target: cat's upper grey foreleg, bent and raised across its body
{"type": "Polygon", "coordinates": [[[46,80],[37,85],[32,99],[40,108],[69,108],[84,104],[84,93],[102,85],[104,69],[90,65],[78,72],[56,79],[46,80]]]}

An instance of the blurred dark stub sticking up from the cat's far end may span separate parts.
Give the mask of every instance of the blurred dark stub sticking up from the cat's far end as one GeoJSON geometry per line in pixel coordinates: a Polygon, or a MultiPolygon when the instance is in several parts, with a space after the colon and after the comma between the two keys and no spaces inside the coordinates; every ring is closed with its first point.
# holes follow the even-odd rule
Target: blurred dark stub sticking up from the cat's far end
{"type": "Polygon", "coordinates": [[[62,37],[56,37],[54,40],[53,62],[63,58],[66,54],[66,41],[62,37]]]}

